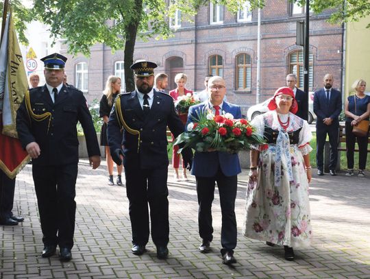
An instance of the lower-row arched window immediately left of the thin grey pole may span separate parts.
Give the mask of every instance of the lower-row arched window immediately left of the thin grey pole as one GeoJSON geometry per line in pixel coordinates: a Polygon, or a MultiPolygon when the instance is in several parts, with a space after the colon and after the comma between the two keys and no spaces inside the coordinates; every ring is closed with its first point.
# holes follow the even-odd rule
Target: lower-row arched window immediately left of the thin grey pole
{"type": "Polygon", "coordinates": [[[235,58],[236,66],[236,90],[251,90],[251,56],[247,53],[239,53],[235,58]]]}

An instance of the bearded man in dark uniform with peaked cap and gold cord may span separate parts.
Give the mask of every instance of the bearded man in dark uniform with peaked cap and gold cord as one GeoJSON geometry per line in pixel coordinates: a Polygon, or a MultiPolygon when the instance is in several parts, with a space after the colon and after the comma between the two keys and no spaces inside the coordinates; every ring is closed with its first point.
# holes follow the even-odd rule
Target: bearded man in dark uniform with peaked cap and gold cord
{"type": "MultiPolygon", "coordinates": [[[[132,253],[143,254],[151,238],[158,258],[167,258],[169,250],[169,201],[167,196],[167,125],[178,136],[184,125],[171,96],[153,89],[156,63],[136,62],[136,90],[116,97],[108,122],[110,154],[117,165],[125,167],[126,191],[130,202],[132,253]],[[123,129],[123,136],[120,130],[123,129]],[[123,149],[122,149],[123,148],[123,149]]],[[[186,165],[191,166],[191,149],[183,149],[186,165]]]]}

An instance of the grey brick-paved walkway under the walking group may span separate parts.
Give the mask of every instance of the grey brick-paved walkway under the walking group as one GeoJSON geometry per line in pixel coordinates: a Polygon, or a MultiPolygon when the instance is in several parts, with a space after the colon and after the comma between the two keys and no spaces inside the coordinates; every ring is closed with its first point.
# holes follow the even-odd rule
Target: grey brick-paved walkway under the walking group
{"type": "MultiPolygon", "coordinates": [[[[103,162],[103,165],[105,162],[103,162]]],[[[175,182],[169,173],[170,255],[130,252],[131,229],[124,186],[106,185],[106,167],[93,171],[79,164],[77,215],[73,260],[41,258],[42,234],[38,220],[32,166],[17,177],[14,213],[25,217],[19,226],[0,226],[0,278],[370,278],[370,174],[367,178],[324,175],[314,179],[310,206],[314,245],[296,250],[296,260],[284,260],[282,247],[269,247],[245,238],[247,171],[239,177],[236,216],[238,263],[221,263],[218,196],[213,206],[213,252],[197,252],[197,194],[195,180],[175,182]]]]}

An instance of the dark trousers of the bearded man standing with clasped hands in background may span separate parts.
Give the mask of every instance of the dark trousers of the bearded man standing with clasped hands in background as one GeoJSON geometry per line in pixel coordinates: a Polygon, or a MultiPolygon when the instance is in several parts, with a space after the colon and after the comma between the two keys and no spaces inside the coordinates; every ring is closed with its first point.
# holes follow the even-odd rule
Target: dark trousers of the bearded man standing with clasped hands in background
{"type": "Polygon", "coordinates": [[[338,161],[338,123],[333,123],[332,125],[325,125],[320,123],[316,125],[316,140],[317,140],[317,150],[316,150],[316,163],[317,169],[323,171],[323,150],[326,141],[326,135],[329,136],[330,143],[330,163],[329,169],[336,169],[336,162],[338,161]]]}

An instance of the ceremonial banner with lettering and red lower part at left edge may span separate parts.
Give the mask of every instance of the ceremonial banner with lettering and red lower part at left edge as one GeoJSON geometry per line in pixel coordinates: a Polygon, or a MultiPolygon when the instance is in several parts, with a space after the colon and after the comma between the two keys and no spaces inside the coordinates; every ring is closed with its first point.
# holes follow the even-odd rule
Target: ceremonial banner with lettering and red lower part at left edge
{"type": "Polygon", "coordinates": [[[29,161],[27,152],[16,138],[16,110],[27,90],[27,77],[14,24],[9,14],[0,47],[0,169],[9,178],[29,161]],[[5,134],[8,135],[5,135],[5,134]]]}

